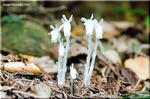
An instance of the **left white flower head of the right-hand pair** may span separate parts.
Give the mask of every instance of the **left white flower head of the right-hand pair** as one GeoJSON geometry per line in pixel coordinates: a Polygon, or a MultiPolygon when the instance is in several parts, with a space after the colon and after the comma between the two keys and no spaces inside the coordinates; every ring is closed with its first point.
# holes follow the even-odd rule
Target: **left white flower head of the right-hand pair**
{"type": "Polygon", "coordinates": [[[81,21],[84,22],[85,29],[86,29],[86,35],[92,35],[93,33],[93,27],[94,27],[94,21],[93,14],[91,15],[90,19],[81,18],[81,21]]]}

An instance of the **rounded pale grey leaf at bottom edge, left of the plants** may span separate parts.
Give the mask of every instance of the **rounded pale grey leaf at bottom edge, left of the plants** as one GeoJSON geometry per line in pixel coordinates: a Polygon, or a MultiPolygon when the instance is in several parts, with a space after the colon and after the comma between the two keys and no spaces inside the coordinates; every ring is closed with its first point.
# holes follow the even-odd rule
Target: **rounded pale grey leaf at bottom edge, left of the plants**
{"type": "Polygon", "coordinates": [[[43,83],[35,86],[35,93],[41,98],[49,98],[51,96],[51,89],[43,83]]]}

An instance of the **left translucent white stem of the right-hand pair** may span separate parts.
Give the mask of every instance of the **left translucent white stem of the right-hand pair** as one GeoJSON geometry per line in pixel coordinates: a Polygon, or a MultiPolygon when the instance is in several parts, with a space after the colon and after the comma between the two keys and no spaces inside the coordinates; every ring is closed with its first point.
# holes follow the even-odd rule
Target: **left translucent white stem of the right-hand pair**
{"type": "Polygon", "coordinates": [[[90,64],[90,58],[91,58],[91,41],[92,41],[92,36],[88,35],[88,56],[86,58],[86,63],[84,64],[84,85],[87,86],[89,85],[89,80],[88,80],[88,71],[89,71],[89,64],[90,64]]]}

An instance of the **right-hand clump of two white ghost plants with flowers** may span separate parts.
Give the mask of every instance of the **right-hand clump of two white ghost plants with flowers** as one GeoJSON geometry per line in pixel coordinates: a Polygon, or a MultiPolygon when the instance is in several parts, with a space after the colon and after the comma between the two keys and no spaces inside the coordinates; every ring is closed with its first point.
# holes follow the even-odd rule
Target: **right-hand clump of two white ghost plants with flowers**
{"type": "Polygon", "coordinates": [[[94,68],[96,53],[97,53],[97,46],[98,40],[102,39],[103,27],[101,23],[103,19],[98,22],[96,19],[93,19],[93,14],[91,15],[90,19],[81,18],[81,21],[84,22],[86,35],[88,36],[88,55],[86,58],[86,63],[84,64],[84,85],[88,86],[90,84],[90,78],[92,76],[92,71],[94,68]],[[94,49],[92,49],[92,34],[95,30],[95,45],[94,49]],[[92,54],[92,61],[90,63],[90,58],[92,54]]]}

